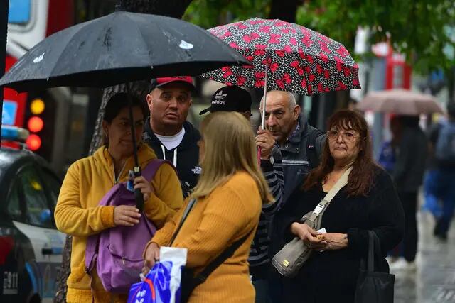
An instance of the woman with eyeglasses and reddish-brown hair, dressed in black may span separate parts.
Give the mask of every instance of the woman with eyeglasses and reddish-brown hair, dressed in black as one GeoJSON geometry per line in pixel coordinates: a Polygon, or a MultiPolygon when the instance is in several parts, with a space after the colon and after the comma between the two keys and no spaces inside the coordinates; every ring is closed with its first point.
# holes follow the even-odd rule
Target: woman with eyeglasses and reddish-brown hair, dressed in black
{"type": "Polygon", "coordinates": [[[314,249],[294,278],[284,279],[283,302],[354,302],[360,260],[367,256],[368,230],[381,246],[378,271],[388,272],[385,256],[402,239],[405,216],[390,175],[373,160],[368,124],[355,111],[338,111],[328,121],[319,167],[291,195],[275,219],[287,242],[298,236],[314,249]],[[315,209],[349,167],[348,184],[331,200],[319,233],[299,222],[315,209]]]}

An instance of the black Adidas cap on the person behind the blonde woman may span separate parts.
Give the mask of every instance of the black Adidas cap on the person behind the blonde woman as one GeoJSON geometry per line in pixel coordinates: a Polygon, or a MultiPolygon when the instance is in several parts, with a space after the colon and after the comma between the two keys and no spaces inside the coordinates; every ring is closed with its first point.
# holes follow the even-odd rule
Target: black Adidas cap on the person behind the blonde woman
{"type": "Polygon", "coordinates": [[[200,115],[214,111],[237,111],[243,113],[251,111],[251,95],[245,89],[230,86],[222,87],[213,94],[211,106],[200,111],[200,115]]]}

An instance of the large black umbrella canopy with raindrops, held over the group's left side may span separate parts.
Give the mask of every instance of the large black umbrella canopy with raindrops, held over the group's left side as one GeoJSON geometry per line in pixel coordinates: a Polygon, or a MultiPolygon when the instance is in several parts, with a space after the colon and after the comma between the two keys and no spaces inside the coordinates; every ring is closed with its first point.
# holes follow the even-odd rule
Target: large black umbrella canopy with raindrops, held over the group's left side
{"type": "Polygon", "coordinates": [[[45,38],[11,67],[0,86],[17,91],[108,87],[236,64],[248,62],[203,28],[176,18],[116,11],[45,38]]]}

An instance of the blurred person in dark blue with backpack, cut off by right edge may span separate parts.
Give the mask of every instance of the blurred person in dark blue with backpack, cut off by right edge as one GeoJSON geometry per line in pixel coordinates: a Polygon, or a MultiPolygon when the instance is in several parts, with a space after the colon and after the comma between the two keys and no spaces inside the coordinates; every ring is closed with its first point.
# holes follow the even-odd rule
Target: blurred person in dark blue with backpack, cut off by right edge
{"type": "Polygon", "coordinates": [[[455,209],[455,103],[447,105],[448,120],[441,124],[434,146],[436,170],[433,186],[438,199],[442,201],[442,214],[434,228],[434,236],[447,240],[447,232],[455,209]]]}

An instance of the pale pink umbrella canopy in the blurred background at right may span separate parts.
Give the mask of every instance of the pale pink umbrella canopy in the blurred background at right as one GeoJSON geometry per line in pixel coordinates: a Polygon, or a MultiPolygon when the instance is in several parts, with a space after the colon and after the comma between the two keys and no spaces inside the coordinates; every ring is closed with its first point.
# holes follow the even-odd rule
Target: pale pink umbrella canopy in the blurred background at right
{"type": "Polygon", "coordinates": [[[432,95],[411,92],[406,89],[370,92],[359,102],[358,109],[408,116],[444,112],[432,95]]]}

